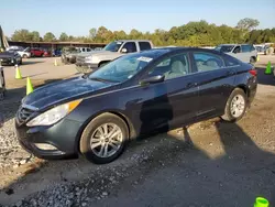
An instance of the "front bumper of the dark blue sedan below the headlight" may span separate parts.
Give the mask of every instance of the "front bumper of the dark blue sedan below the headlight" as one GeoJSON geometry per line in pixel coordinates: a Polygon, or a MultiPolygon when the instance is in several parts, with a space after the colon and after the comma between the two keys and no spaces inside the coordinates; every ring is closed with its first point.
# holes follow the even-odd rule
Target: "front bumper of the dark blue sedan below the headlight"
{"type": "Polygon", "coordinates": [[[66,159],[78,155],[78,132],[81,124],[77,121],[64,119],[50,127],[29,128],[15,118],[15,131],[20,144],[40,159],[66,159]],[[38,149],[35,143],[51,144],[55,150],[38,149]]]}

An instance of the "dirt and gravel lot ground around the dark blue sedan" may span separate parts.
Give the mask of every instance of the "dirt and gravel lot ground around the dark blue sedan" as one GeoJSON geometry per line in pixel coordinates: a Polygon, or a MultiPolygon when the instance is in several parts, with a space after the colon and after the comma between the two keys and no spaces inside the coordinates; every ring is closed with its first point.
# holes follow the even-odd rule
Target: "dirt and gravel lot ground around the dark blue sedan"
{"type": "MultiPolygon", "coordinates": [[[[25,79],[14,80],[14,69],[7,67],[0,138],[12,139],[0,144],[0,204],[249,207],[264,196],[275,206],[275,79],[264,75],[267,61],[275,64],[275,56],[257,63],[257,95],[240,122],[217,118],[136,140],[108,165],[84,159],[41,161],[21,150],[12,121],[25,79]]],[[[74,66],[54,67],[51,58],[28,62],[22,75],[34,85],[76,75],[74,66]]]]}

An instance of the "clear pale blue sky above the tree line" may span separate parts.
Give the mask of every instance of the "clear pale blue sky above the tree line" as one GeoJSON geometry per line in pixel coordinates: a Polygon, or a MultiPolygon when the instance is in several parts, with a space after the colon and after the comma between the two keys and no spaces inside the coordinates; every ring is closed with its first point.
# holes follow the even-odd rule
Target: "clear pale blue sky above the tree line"
{"type": "Polygon", "coordinates": [[[0,25],[7,36],[15,30],[88,35],[101,25],[109,30],[169,30],[206,20],[235,26],[243,18],[257,19],[258,29],[275,28],[275,0],[1,0],[0,25]]]}

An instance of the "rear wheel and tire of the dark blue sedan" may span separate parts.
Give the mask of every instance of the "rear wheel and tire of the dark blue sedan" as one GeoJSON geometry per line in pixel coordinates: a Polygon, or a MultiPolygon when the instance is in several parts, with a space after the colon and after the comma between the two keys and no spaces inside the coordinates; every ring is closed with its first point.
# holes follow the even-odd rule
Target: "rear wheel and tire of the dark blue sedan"
{"type": "Polygon", "coordinates": [[[239,121],[245,115],[248,109],[248,96],[241,88],[235,88],[226,105],[224,115],[221,117],[224,121],[239,121]]]}

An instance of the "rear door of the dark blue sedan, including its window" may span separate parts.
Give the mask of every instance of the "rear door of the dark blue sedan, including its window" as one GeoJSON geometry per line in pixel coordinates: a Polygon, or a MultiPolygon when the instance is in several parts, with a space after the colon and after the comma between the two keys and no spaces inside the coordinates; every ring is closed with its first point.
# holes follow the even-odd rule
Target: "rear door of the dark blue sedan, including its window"
{"type": "Polygon", "coordinates": [[[199,89],[199,118],[222,115],[234,84],[234,67],[228,67],[220,55],[194,52],[199,89]]]}

